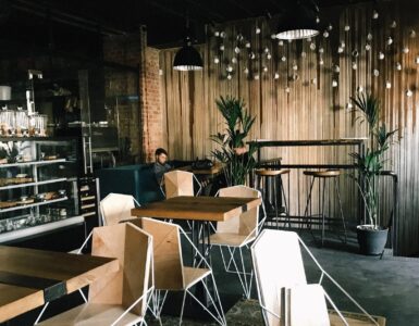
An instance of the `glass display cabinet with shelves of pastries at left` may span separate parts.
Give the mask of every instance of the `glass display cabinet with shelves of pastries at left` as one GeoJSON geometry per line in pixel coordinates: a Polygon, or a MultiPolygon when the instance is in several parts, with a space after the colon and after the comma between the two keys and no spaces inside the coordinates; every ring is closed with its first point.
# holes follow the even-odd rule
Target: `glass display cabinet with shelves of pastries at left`
{"type": "Polygon", "coordinates": [[[0,137],[0,243],[84,223],[75,138],[0,137]]]}

